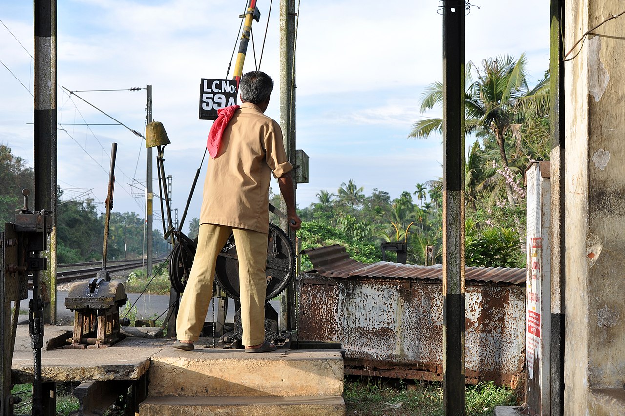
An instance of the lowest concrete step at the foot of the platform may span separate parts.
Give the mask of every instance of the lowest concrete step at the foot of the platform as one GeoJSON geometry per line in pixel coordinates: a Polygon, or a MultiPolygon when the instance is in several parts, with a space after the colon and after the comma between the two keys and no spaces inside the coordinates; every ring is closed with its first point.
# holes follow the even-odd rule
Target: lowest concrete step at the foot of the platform
{"type": "Polygon", "coordinates": [[[342,397],[149,397],[140,416],[344,416],[342,397]]]}

